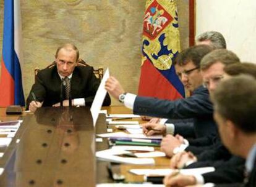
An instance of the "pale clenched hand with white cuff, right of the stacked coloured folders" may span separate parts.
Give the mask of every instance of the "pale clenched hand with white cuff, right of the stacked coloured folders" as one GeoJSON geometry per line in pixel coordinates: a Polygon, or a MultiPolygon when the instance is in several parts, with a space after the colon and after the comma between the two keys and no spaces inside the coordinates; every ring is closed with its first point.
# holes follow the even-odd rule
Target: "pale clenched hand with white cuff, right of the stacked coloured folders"
{"type": "Polygon", "coordinates": [[[161,151],[163,151],[166,156],[172,157],[173,149],[179,147],[181,144],[182,143],[173,135],[166,135],[161,141],[161,151]]]}

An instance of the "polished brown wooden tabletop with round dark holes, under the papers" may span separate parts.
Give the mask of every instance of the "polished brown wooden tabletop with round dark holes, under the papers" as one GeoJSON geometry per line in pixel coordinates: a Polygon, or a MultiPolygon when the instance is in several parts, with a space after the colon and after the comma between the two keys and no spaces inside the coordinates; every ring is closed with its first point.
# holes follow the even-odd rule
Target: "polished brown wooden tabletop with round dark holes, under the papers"
{"type": "MultiPolygon", "coordinates": [[[[0,108],[0,120],[24,120],[0,159],[0,167],[5,167],[0,186],[95,186],[113,182],[106,169],[109,162],[95,159],[95,151],[109,148],[106,138],[95,143],[95,133],[106,133],[106,117],[100,114],[93,130],[90,116],[83,111],[87,109],[42,108],[35,114],[7,116],[5,108],[0,108]]],[[[124,106],[102,109],[108,114],[132,113],[124,106]]],[[[156,157],[155,165],[121,164],[118,170],[127,182],[141,182],[143,176],[129,173],[130,169],[168,167],[168,158],[156,157]]]]}

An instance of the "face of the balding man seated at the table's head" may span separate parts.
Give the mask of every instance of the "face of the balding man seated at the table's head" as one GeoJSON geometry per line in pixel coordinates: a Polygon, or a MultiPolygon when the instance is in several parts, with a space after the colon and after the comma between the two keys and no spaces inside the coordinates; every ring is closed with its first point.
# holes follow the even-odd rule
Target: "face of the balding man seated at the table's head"
{"type": "Polygon", "coordinates": [[[56,64],[58,73],[61,76],[69,76],[77,66],[77,54],[73,49],[61,49],[59,50],[58,57],[56,58],[56,64]]]}

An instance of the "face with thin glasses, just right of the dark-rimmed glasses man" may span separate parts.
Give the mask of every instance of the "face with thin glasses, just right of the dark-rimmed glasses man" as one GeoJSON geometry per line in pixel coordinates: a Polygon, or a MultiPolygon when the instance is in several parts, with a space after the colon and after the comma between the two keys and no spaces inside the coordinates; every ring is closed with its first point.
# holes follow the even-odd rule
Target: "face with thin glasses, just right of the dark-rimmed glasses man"
{"type": "Polygon", "coordinates": [[[216,62],[208,68],[208,70],[201,71],[203,78],[203,85],[207,87],[210,94],[218,86],[221,79],[223,79],[224,65],[221,62],[216,62]]]}

